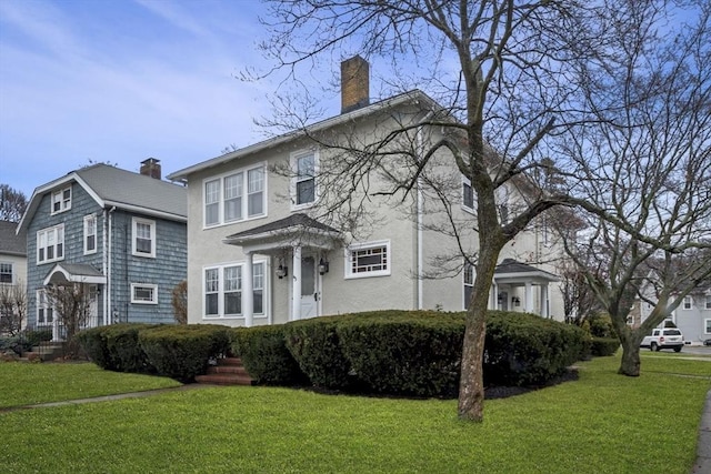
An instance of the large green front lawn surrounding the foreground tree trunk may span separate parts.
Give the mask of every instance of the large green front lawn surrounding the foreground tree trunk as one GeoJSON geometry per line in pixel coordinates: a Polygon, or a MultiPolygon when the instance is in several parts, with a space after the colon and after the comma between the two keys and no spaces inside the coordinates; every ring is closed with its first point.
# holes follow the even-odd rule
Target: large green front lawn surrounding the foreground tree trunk
{"type": "Polygon", "coordinates": [[[267,387],[16,411],[0,414],[0,472],[688,474],[711,360],[643,355],[639,379],[618,364],[488,401],[483,424],[458,421],[455,401],[267,387]]]}

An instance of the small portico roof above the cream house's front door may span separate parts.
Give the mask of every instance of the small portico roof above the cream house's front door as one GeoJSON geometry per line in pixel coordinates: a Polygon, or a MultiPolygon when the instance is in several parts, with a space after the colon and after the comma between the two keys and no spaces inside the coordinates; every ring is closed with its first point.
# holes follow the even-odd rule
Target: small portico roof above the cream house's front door
{"type": "Polygon", "coordinates": [[[299,213],[228,235],[222,242],[246,252],[269,253],[296,245],[330,250],[339,239],[336,229],[299,213]]]}

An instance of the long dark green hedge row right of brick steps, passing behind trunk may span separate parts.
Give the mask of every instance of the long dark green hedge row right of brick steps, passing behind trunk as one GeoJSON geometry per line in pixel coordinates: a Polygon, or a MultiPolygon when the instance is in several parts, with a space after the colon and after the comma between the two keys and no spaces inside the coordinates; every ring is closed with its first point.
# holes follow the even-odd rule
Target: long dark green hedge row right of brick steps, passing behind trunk
{"type": "MultiPolygon", "coordinates": [[[[232,351],[260,383],[453,397],[459,390],[463,313],[381,311],[242,329],[232,351]]],[[[588,336],[522,313],[490,312],[488,384],[540,384],[581,359],[588,336]]]]}

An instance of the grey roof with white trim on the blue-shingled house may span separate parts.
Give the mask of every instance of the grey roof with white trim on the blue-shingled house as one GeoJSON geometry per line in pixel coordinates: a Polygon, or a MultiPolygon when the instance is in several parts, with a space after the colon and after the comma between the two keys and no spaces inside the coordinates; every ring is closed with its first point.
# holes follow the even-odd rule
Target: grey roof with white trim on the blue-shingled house
{"type": "Polygon", "coordinates": [[[183,186],[104,163],[81,168],[34,190],[19,229],[27,230],[28,220],[37,212],[42,196],[76,182],[101,208],[118,208],[157,218],[187,222],[188,195],[183,186]]]}

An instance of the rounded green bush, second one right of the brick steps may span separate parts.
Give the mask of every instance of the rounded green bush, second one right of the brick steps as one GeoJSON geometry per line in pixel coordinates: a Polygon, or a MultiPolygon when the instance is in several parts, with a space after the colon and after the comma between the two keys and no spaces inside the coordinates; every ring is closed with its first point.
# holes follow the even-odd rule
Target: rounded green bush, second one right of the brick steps
{"type": "Polygon", "coordinates": [[[347,389],[350,363],[341,351],[337,327],[343,316],[317,317],[284,324],[287,349],[314,386],[347,389]]]}

